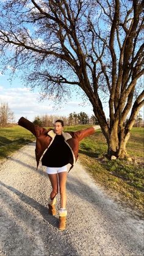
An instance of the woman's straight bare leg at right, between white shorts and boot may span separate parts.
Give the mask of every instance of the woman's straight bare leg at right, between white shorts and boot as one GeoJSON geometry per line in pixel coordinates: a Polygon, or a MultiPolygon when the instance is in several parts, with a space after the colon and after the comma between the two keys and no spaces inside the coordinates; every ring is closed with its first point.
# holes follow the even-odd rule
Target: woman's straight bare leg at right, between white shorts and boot
{"type": "Polygon", "coordinates": [[[66,181],[67,172],[60,172],[59,174],[59,188],[60,188],[60,208],[66,208],[66,181]]]}

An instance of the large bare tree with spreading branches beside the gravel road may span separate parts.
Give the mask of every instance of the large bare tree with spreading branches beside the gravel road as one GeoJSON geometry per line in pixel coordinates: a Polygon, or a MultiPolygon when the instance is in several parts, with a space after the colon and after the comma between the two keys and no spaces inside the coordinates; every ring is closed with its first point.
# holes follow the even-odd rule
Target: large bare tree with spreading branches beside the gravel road
{"type": "Polygon", "coordinates": [[[23,69],[43,97],[81,87],[107,140],[108,155],[127,156],[142,108],[143,1],[1,1],[0,43],[5,65],[23,69]],[[103,102],[109,104],[107,123],[103,102]],[[126,120],[128,121],[126,122],[126,120]]]}

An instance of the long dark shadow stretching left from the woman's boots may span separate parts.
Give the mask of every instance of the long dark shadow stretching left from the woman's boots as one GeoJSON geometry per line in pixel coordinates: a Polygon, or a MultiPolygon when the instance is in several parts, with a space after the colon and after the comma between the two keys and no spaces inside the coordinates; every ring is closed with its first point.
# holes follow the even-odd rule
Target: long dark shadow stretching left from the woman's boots
{"type": "Polygon", "coordinates": [[[15,193],[20,198],[21,201],[23,201],[24,203],[27,203],[28,205],[31,205],[31,207],[39,211],[41,216],[43,216],[43,219],[49,222],[49,224],[53,225],[54,227],[58,226],[58,222],[59,222],[58,219],[55,216],[49,215],[47,207],[45,207],[44,205],[41,205],[41,203],[38,203],[35,199],[32,199],[31,197],[21,193],[20,191],[13,188],[12,186],[5,185],[2,181],[0,181],[0,185],[9,189],[13,193],[15,193]]]}

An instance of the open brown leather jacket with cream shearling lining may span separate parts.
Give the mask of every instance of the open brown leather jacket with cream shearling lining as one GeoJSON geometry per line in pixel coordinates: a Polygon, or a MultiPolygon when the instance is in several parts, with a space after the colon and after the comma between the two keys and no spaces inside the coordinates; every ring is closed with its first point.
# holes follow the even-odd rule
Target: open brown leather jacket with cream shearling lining
{"type": "MultiPolygon", "coordinates": [[[[54,137],[56,136],[56,133],[54,133],[54,130],[52,129],[47,130],[46,128],[40,127],[38,125],[34,125],[34,123],[30,122],[24,117],[20,118],[20,120],[18,121],[18,125],[31,131],[31,133],[34,134],[34,136],[36,137],[35,158],[37,161],[37,168],[38,168],[38,164],[41,156],[54,141],[54,137]]],[[[84,139],[84,137],[87,137],[93,133],[95,133],[95,128],[93,127],[90,127],[81,131],[74,131],[74,132],[68,131],[67,133],[62,132],[65,142],[70,147],[71,153],[73,155],[73,158],[71,158],[71,163],[70,163],[71,168],[74,166],[78,158],[79,141],[81,141],[82,139],[84,139]]]]}

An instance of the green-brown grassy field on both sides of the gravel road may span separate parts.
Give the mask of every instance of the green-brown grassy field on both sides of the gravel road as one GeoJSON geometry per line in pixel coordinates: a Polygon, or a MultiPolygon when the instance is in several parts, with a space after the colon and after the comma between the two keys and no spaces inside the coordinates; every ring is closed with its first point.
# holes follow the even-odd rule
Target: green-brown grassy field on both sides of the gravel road
{"type": "MultiPolygon", "coordinates": [[[[68,126],[65,131],[76,131],[90,125],[68,126]]],[[[20,126],[0,128],[0,160],[7,158],[35,137],[20,126]]],[[[109,161],[106,139],[101,130],[85,138],[80,144],[79,159],[87,167],[96,183],[104,186],[110,193],[117,194],[123,202],[143,211],[143,128],[132,128],[127,150],[132,162],[109,161]]]]}

